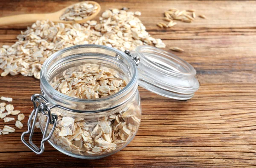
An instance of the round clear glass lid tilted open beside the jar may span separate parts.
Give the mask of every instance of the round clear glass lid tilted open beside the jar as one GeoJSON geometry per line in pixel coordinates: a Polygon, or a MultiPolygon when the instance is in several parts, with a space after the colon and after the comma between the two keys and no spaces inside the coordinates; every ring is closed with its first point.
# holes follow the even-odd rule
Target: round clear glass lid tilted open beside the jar
{"type": "Polygon", "coordinates": [[[151,46],[138,46],[131,51],[138,63],[139,85],[156,94],[188,100],[199,88],[196,71],[175,54],[151,46]]]}

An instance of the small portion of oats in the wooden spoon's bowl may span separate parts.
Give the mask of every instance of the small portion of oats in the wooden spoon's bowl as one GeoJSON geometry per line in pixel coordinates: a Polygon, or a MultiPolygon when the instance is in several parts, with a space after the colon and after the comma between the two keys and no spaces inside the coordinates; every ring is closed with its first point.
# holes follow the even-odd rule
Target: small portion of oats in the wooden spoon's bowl
{"type": "Polygon", "coordinates": [[[94,14],[97,11],[97,9],[98,6],[89,2],[78,3],[70,8],[67,8],[61,15],[60,20],[83,20],[89,17],[90,15],[94,14]]]}

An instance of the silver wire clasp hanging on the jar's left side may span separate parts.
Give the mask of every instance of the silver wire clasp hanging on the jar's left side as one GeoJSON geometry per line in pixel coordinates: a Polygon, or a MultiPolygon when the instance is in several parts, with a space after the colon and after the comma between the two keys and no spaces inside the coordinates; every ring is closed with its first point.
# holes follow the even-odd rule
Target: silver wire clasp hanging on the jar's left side
{"type": "Polygon", "coordinates": [[[33,152],[35,152],[36,154],[42,154],[44,152],[44,142],[48,141],[50,139],[50,137],[52,136],[56,124],[57,124],[57,120],[58,120],[58,116],[56,114],[51,114],[51,107],[49,107],[49,102],[45,99],[45,97],[41,94],[34,94],[31,97],[31,101],[33,102],[34,105],[34,110],[32,111],[32,113],[30,114],[29,120],[28,120],[28,131],[23,132],[23,134],[21,135],[21,141],[29,148],[31,149],[33,152]],[[37,103],[39,103],[39,105],[37,106],[37,103]],[[45,125],[45,129],[44,129],[44,135],[43,138],[41,140],[41,146],[40,148],[38,148],[33,142],[32,142],[32,137],[34,134],[34,130],[35,130],[35,123],[36,123],[36,119],[38,117],[38,113],[42,113],[44,115],[47,116],[47,122],[45,125]],[[35,116],[33,123],[32,123],[32,127],[31,127],[31,121],[32,118],[35,116]],[[49,124],[53,124],[52,126],[52,130],[49,132],[48,131],[48,126],[49,124]],[[48,134],[49,132],[49,134],[48,134]],[[26,134],[29,134],[29,143],[25,141],[24,136],[26,134]],[[48,136],[47,136],[48,134],[48,136]]]}

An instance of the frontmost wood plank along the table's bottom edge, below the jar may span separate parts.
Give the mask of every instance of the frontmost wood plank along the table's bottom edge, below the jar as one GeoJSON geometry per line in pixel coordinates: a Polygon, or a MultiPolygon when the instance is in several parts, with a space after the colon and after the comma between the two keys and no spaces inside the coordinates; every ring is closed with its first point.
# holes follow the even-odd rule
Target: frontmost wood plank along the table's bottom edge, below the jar
{"type": "MultiPolygon", "coordinates": [[[[212,167],[221,164],[223,167],[232,165],[233,167],[253,167],[255,166],[255,162],[253,159],[243,159],[243,152],[232,152],[232,148],[224,148],[226,151],[194,151],[193,156],[190,154],[184,153],[183,155],[177,155],[179,152],[187,150],[186,148],[148,148],[147,150],[143,149],[142,151],[137,150],[136,148],[126,148],[131,151],[120,151],[115,155],[110,157],[106,157],[99,160],[82,160],[67,157],[60,152],[55,153],[53,151],[48,152],[47,154],[42,154],[40,159],[31,159],[35,157],[35,154],[32,152],[18,152],[13,155],[13,153],[5,153],[3,156],[3,164],[0,166],[19,166],[24,165],[26,167],[34,167],[35,165],[39,167],[62,167],[68,164],[72,165],[72,167],[141,167],[141,166],[165,166],[169,167],[172,165],[176,165],[179,167],[190,167],[193,165],[201,165],[203,167],[212,167]],[[174,150],[177,154],[173,156],[169,154],[169,151],[174,150]],[[231,150],[230,152],[227,152],[231,150]],[[137,154],[140,154],[138,157],[137,154]],[[157,154],[157,156],[155,156],[157,154]],[[215,154],[215,157],[212,155],[215,154]],[[230,155],[231,154],[231,155],[230,155]],[[207,156],[208,155],[208,156],[207,156]],[[22,157],[17,157],[22,156],[22,157]],[[54,157],[53,157],[54,156],[54,157]],[[154,157],[155,160],[151,158],[154,157]],[[56,158],[58,160],[56,161],[56,158]],[[232,158],[232,159],[230,159],[232,158]],[[12,160],[15,159],[15,162],[12,160]],[[31,160],[30,162],[23,162],[23,159],[31,160]],[[208,162],[205,162],[207,160],[208,162]],[[12,163],[11,163],[12,162],[12,163]],[[97,166],[95,164],[97,163],[97,166]]],[[[192,150],[193,151],[193,150],[192,150]]],[[[246,156],[246,155],[245,155],[246,156]]],[[[36,156],[37,158],[39,156],[36,156]]],[[[247,156],[248,157],[248,156],[247,156]]]]}

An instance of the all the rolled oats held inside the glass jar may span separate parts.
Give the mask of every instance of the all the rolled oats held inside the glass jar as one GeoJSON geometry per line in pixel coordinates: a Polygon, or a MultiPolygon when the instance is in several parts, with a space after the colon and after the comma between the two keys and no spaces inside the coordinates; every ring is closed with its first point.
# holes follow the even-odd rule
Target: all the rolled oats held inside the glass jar
{"type": "MultiPolygon", "coordinates": [[[[127,85],[120,74],[111,68],[87,64],[82,69],[67,74],[64,72],[63,77],[50,82],[52,87],[67,96],[97,99],[115,94],[127,85]],[[63,92],[63,88],[68,89],[63,92]]],[[[122,148],[131,140],[139,128],[141,113],[138,106],[131,103],[105,117],[76,118],[60,112],[56,114],[57,126],[51,137],[54,144],[73,154],[102,155],[122,148]]],[[[45,127],[47,119],[42,116],[39,122],[45,127]]]]}

